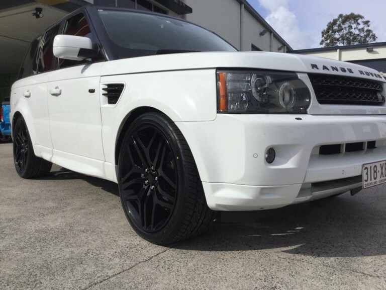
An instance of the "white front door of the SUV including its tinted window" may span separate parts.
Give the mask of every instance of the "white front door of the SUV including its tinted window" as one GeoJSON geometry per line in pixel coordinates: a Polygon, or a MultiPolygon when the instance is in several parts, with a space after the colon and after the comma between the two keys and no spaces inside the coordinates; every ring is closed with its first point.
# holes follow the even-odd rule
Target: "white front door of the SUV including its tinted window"
{"type": "MultiPolygon", "coordinates": [[[[65,21],[63,34],[95,39],[83,13],[65,21]]],[[[58,69],[50,73],[47,91],[54,157],[105,160],[99,96],[103,62],[90,61],[58,59],[58,69]]]]}

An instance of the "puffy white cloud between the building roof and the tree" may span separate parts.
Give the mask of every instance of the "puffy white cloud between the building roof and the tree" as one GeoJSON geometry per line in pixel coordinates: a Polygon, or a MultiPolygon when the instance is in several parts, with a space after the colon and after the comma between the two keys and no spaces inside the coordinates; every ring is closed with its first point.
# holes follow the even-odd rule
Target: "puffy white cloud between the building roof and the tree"
{"type": "Polygon", "coordinates": [[[259,0],[268,11],[265,20],[294,49],[310,47],[312,37],[303,33],[294,12],[289,10],[288,0],[259,0]]]}

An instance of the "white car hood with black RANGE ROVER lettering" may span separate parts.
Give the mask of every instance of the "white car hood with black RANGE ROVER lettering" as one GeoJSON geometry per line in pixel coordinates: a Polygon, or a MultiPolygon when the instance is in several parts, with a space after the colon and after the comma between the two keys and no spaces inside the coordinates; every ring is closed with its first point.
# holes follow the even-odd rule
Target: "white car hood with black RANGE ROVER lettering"
{"type": "Polygon", "coordinates": [[[378,71],[329,58],[274,52],[194,52],[108,61],[102,75],[207,68],[252,68],[357,77],[385,82],[378,71]]]}

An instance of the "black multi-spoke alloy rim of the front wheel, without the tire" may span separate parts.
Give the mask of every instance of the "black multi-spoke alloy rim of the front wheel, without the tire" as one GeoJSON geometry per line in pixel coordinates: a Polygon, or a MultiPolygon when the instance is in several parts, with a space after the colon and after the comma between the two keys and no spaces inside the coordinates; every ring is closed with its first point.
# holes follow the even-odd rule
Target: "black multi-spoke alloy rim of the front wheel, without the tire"
{"type": "Polygon", "coordinates": [[[161,230],[173,212],[177,171],[170,144],[157,126],[133,130],[122,158],[121,194],[135,226],[144,232],[161,230]]]}

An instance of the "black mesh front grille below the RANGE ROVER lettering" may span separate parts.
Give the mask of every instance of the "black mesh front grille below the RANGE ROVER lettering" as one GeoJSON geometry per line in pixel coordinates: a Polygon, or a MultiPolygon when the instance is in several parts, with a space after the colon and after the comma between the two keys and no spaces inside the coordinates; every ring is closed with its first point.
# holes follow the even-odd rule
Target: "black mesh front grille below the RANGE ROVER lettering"
{"type": "Polygon", "coordinates": [[[320,104],[382,105],[381,82],[329,75],[308,75],[320,104]]]}

